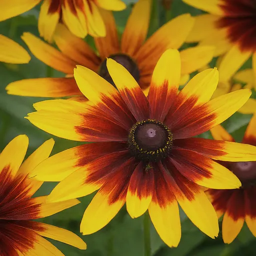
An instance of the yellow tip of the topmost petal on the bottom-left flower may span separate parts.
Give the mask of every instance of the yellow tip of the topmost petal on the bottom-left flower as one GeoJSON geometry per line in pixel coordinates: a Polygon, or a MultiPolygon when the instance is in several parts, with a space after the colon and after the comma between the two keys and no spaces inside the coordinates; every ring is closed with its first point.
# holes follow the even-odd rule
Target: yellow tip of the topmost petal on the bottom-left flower
{"type": "Polygon", "coordinates": [[[28,137],[18,135],[13,138],[0,153],[0,171],[9,167],[11,176],[14,177],[21,165],[28,146],[28,137]]]}

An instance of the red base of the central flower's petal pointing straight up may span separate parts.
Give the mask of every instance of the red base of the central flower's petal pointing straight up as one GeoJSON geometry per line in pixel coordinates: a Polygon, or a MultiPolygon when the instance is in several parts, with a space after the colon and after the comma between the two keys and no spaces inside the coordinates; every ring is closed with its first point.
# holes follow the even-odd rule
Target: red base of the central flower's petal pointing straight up
{"type": "Polygon", "coordinates": [[[148,102],[150,106],[149,118],[163,120],[177,96],[177,88],[172,86],[169,90],[168,81],[165,80],[161,86],[150,85],[148,102]]]}

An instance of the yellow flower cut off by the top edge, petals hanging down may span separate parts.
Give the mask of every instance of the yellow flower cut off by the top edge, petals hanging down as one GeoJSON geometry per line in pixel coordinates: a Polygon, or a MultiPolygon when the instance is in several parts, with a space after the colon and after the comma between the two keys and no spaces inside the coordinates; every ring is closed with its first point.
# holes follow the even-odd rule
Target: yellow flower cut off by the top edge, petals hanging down
{"type": "Polygon", "coordinates": [[[30,10],[39,2],[41,8],[38,18],[40,36],[51,41],[58,23],[63,22],[68,29],[79,37],[88,33],[92,36],[105,36],[106,29],[99,8],[122,10],[121,0],[1,0],[0,21],[17,16],[30,10]]]}

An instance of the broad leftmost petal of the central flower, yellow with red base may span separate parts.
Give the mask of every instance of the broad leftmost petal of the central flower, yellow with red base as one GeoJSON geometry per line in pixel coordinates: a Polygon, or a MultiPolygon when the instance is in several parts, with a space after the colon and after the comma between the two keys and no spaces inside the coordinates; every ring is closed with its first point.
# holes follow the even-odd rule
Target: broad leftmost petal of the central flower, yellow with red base
{"type": "Polygon", "coordinates": [[[128,131],[91,102],[52,99],[33,104],[26,117],[35,126],[59,137],[77,141],[122,141],[128,131]],[[98,119],[98,116],[101,116],[98,119]]]}

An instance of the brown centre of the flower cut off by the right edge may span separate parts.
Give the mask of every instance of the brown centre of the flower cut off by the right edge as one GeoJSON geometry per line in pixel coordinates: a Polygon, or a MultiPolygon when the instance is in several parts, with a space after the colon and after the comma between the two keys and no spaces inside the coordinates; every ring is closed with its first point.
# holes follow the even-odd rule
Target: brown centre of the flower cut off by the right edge
{"type": "Polygon", "coordinates": [[[230,170],[240,179],[243,187],[256,184],[256,161],[232,162],[230,170]]]}

